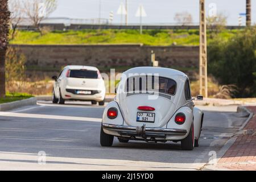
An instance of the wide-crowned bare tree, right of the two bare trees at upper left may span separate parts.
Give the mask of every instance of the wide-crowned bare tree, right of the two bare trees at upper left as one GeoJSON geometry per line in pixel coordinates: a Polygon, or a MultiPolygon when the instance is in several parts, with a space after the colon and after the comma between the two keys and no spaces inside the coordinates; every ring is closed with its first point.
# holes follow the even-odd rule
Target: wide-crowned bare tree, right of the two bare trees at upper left
{"type": "Polygon", "coordinates": [[[56,10],[56,0],[26,0],[24,1],[24,12],[31,20],[33,26],[38,28],[41,35],[43,35],[40,23],[44,18],[47,18],[53,11],[56,10]]]}

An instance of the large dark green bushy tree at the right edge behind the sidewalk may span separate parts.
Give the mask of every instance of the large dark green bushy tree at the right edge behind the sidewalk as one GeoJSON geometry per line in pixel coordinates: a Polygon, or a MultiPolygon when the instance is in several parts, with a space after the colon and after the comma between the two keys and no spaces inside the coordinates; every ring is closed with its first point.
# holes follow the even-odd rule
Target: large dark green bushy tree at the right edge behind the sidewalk
{"type": "Polygon", "coordinates": [[[218,36],[208,49],[208,70],[220,84],[237,86],[236,97],[256,96],[256,26],[229,40],[218,36]]]}

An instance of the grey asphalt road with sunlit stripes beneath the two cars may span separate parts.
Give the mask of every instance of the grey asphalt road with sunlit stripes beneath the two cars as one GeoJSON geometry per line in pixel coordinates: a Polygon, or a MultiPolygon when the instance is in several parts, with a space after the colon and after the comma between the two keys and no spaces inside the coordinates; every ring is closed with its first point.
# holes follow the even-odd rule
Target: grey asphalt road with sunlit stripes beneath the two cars
{"type": "Polygon", "coordinates": [[[201,106],[203,131],[200,146],[193,151],[182,151],[180,143],[119,143],[116,138],[112,147],[101,147],[104,106],[86,102],[53,105],[42,101],[0,112],[0,169],[203,169],[214,154],[223,152],[222,146],[246,120],[236,107],[201,106]]]}

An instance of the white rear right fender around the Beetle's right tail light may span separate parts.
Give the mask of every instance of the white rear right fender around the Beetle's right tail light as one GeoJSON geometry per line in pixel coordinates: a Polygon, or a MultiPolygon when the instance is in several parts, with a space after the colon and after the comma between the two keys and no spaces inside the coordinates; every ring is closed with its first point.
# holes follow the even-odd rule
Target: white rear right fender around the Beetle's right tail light
{"type": "Polygon", "coordinates": [[[187,130],[187,134],[184,136],[184,138],[185,138],[185,137],[187,137],[187,135],[189,133],[192,123],[193,123],[192,110],[187,106],[183,106],[183,107],[180,107],[180,109],[176,110],[174,115],[172,115],[172,118],[167,123],[167,129],[185,129],[185,130],[187,130]],[[179,125],[175,122],[175,116],[177,113],[185,114],[185,122],[182,125],[179,125]]]}

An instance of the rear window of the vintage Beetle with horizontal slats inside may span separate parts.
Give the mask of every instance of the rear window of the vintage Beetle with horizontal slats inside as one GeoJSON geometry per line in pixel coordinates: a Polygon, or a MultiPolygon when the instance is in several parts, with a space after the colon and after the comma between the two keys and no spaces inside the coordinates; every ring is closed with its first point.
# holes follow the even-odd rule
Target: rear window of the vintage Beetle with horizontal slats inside
{"type": "Polygon", "coordinates": [[[166,77],[155,77],[150,79],[147,76],[129,77],[126,81],[126,92],[152,91],[175,95],[176,81],[166,77]],[[158,78],[158,79],[157,79],[158,78]]]}

